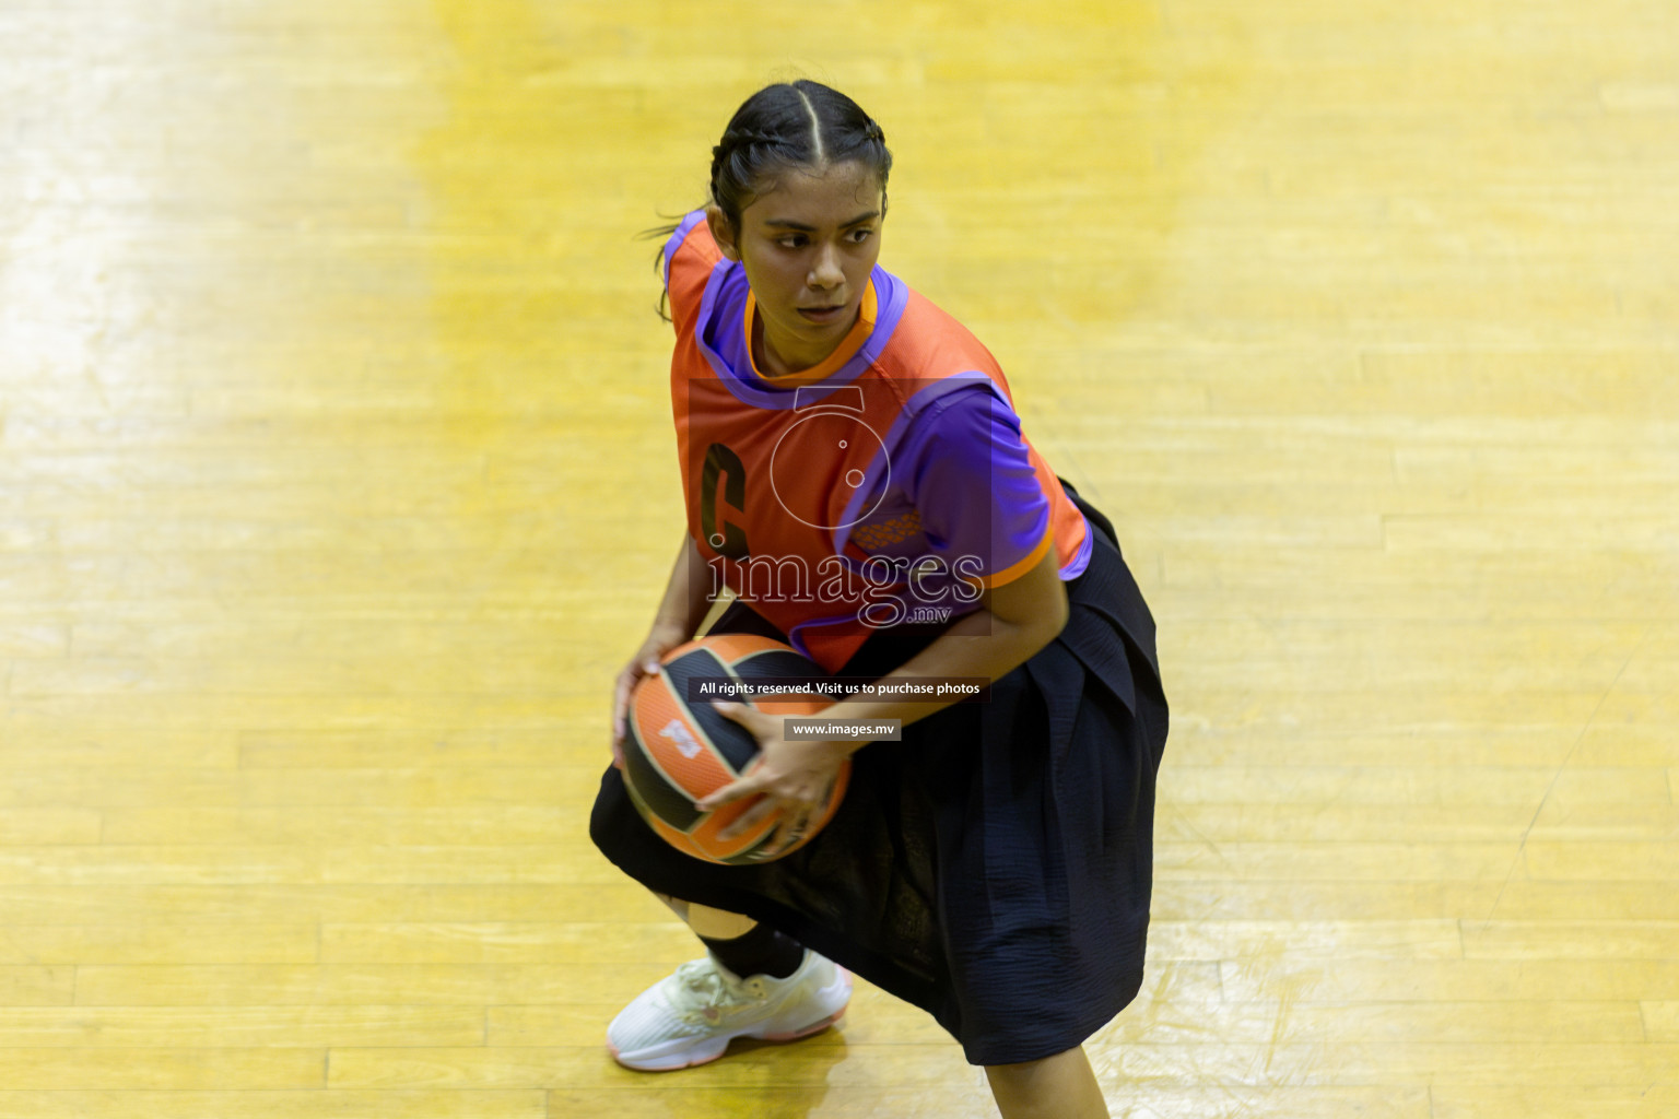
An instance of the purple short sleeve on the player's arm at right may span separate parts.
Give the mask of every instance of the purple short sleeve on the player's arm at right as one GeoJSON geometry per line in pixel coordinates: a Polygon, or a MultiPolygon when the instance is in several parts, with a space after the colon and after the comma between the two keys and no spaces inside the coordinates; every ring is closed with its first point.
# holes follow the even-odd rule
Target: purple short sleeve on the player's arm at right
{"type": "Polygon", "coordinates": [[[932,404],[893,458],[934,552],[965,577],[991,584],[1031,557],[1049,532],[1049,500],[1019,416],[986,386],[955,389],[932,404]]]}

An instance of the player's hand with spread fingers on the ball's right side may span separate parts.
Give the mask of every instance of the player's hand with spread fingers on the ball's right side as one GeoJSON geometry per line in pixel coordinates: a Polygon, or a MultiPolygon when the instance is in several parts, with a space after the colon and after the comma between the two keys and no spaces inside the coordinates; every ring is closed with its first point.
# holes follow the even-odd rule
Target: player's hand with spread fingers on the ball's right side
{"type": "Polygon", "coordinates": [[[782,730],[786,715],[771,715],[745,703],[717,701],[712,706],[757,738],[759,758],[740,780],[719,789],[695,807],[710,812],[745,797],[761,797],[759,804],[720,832],[720,839],[734,839],[757,827],[772,812],[784,812],[781,827],[764,849],[764,857],[772,859],[804,837],[850,752],[840,742],[787,742],[782,730]]]}

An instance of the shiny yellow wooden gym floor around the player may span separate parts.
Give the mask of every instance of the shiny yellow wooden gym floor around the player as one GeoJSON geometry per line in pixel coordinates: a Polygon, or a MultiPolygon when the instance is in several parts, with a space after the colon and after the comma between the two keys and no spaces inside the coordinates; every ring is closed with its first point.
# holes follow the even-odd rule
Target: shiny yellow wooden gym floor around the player
{"type": "Polygon", "coordinates": [[[0,1117],[987,1116],[675,1075],[589,846],[662,213],[855,94],[1174,735],[1132,1119],[1679,1116],[1679,8],[0,0],[0,1117]]]}

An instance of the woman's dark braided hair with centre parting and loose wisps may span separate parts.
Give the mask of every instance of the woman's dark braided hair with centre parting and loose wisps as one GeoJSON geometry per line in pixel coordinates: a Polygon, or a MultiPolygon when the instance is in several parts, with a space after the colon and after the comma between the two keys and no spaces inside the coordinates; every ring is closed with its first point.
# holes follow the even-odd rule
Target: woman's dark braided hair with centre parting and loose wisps
{"type": "MultiPolygon", "coordinates": [[[[782,171],[818,169],[836,163],[861,163],[880,180],[880,211],[887,213],[887,176],[892,151],[880,124],[838,89],[801,79],[766,86],[735,109],[722,139],[712,148],[710,193],[729,225],[740,228],[740,213],[782,171]]],[[[662,242],[675,225],[648,230],[662,242]]],[[[663,273],[663,252],[653,258],[663,273]]],[[[665,314],[660,299],[658,314],[665,314]]]]}

